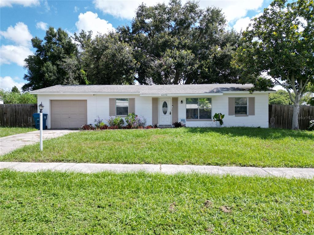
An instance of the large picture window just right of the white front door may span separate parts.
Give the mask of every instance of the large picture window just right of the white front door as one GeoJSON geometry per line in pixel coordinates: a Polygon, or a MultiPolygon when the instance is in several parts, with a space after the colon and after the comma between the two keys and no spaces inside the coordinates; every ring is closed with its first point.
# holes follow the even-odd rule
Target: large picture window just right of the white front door
{"type": "Polygon", "coordinates": [[[211,98],[187,98],[187,119],[211,119],[211,98]]]}

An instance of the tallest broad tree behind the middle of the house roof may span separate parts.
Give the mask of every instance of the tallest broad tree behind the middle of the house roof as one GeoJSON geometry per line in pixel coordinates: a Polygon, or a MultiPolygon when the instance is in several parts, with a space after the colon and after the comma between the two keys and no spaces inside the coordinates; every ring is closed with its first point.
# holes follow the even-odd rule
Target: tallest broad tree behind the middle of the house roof
{"type": "Polygon", "coordinates": [[[131,27],[117,31],[132,45],[140,84],[236,83],[240,72],[230,61],[240,34],[225,26],[219,8],[172,0],[141,4],[131,27]]]}

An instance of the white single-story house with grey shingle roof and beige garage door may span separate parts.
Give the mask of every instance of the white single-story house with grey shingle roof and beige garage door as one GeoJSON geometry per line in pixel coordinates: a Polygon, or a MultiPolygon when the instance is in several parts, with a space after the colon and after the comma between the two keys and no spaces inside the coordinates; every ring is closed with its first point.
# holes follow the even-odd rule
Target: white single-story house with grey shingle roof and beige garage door
{"type": "Polygon", "coordinates": [[[268,94],[252,84],[197,85],[57,85],[31,91],[43,103],[48,128],[78,128],[95,124],[99,116],[125,117],[134,112],[147,125],[185,123],[215,126],[215,113],[225,114],[225,126],[268,128],[268,94]]]}

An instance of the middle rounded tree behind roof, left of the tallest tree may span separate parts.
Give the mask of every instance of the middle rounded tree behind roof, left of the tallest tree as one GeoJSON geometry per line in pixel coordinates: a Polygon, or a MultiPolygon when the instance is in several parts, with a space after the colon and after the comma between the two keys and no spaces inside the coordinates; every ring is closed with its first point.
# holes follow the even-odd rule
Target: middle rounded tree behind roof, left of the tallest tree
{"type": "Polygon", "coordinates": [[[80,47],[82,69],[87,74],[89,84],[133,84],[136,62],[131,46],[121,41],[119,34],[97,34],[82,31],[74,34],[80,47]]]}

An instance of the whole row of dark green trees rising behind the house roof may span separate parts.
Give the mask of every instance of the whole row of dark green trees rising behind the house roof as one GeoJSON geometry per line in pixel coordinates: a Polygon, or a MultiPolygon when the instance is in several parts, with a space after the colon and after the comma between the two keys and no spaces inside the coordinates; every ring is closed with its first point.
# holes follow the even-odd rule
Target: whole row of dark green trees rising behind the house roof
{"type": "Polygon", "coordinates": [[[230,65],[240,34],[225,29],[219,8],[197,2],[138,6],[130,26],[116,32],[81,31],[71,38],[50,27],[32,39],[23,91],[57,84],[238,83],[230,65]],[[75,41],[75,42],[74,42],[75,41]]]}

